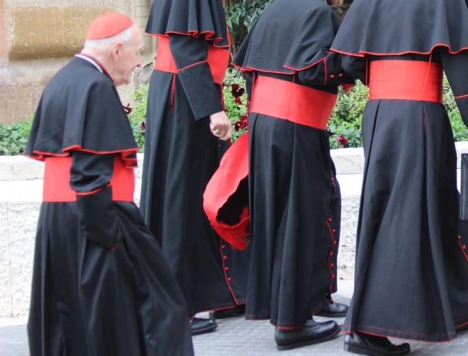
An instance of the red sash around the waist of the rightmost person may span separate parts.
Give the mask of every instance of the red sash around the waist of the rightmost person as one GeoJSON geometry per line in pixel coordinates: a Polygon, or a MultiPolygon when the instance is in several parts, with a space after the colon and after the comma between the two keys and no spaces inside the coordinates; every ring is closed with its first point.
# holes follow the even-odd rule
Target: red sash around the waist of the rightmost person
{"type": "Polygon", "coordinates": [[[421,60],[371,62],[369,90],[373,99],[443,102],[442,65],[421,60]]]}

